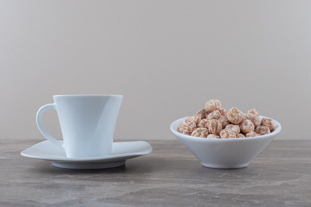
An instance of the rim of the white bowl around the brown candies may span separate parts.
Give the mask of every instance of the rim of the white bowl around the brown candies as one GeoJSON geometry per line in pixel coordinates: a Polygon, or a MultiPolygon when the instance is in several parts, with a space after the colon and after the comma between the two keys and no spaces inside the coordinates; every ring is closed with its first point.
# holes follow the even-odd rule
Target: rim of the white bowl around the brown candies
{"type": "Polygon", "coordinates": [[[182,134],[182,133],[177,131],[178,129],[174,129],[173,125],[176,125],[177,123],[178,123],[178,125],[181,124],[181,122],[183,120],[185,120],[186,118],[188,118],[188,117],[189,116],[183,117],[183,118],[180,118],[180,119],[177,119],[177,120],[173,121],[170,124],[170,126],[169,126],[170,131],[174,135],[176,135],[176,136],[183,136],[184,138],[188,138],[188,139],[209,140],[209,141],[224,141],[224,140],[236,140],[237,141],[237,140],[250,140],[250,139],[258,139],[258,138],[260,139],[260,138],[267,138],[267,137],[270,137],[270,136],[276,136],[277,134],[279,134],[279,132],[281,131],[281,128],[282,128],[281,124],[278,121],[276,121],[276,120],[274,120],[272,118],[266,117],[266,116],[259,116],[260,121],[263,118],[269,118],[269,119],[273,120],[274,125],[275,125],[275,129],[274,129],[273,132],[271,132],[269,134],[266,134],[266,135],[261,135],[261,136],[257,136],[257,137],[250,137],[250,138],[200,138],[200,137],[193,137],[193,136],[190,136],[190,135],[182,134]]]}

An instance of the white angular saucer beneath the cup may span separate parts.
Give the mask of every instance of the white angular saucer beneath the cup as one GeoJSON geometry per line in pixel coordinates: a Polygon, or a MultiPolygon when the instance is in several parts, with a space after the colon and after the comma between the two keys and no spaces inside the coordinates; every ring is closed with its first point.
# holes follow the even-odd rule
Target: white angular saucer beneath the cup
{"type": "Polygon", "coordinates": [[[146,141],[114,142],[111,155],[101,157],[67,158],[65,150],[50,141],[41,141],[20,154],[24,157],[52,161],[55,167],[68,169],[101,169],[125,165],[127,159],[151,153],[152,146],[146,141]]]}

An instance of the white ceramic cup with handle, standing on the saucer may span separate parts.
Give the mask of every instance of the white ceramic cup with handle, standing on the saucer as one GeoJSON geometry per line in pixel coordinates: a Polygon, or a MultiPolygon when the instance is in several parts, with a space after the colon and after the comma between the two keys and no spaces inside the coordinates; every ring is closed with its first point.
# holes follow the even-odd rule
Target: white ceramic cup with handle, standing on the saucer
{"type": "Polygon", "coordinates": [[[113,134],[122,95],[56,95],[54,103],[42,106],[37,125],[42,135],[64,148],[66,156],[98,157],[111,154],[113,134]],[[42,114],[57,111],[63,142],[52,137],[42,124],[42,114]]]}

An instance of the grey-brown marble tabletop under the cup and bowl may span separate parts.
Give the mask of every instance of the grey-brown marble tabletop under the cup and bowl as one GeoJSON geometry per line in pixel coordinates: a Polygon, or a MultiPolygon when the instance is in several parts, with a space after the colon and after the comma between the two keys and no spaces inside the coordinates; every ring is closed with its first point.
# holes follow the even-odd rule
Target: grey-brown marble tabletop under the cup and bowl
{"type": "Polygon", "coordinates": [[[125,166],[68,170],[0,140],[0,207],[311,207],[311,141],[272,141],[248,167],[211,169],[177,140],[125,166]]]}

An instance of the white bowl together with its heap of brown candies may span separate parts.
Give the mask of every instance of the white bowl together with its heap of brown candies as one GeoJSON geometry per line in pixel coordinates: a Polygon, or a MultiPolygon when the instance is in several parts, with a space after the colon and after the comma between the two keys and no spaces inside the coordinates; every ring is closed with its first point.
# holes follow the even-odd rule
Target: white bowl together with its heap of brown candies
{"type": "Polygon", "coordinates": [[[212,99],[196,115],[172,122],[170,130],[204,167],[233,169],[247,167],[279,134],[281,124],[256,109],[227,111],[212,99]]]}

